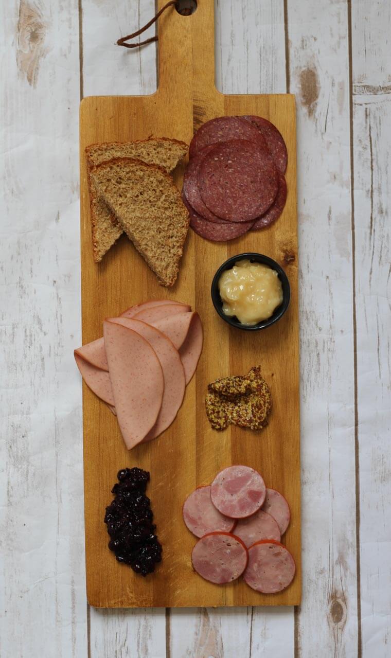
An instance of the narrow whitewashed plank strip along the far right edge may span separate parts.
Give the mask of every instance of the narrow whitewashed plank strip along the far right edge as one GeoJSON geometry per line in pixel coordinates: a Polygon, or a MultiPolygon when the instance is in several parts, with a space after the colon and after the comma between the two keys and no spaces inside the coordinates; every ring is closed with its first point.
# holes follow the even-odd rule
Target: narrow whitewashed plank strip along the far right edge
{"type": "Polygon", "coordinates": [[[352,3],[359,594],[362,655],[376,658],[391,620],[390,23],[388,3],[352,3]]]}

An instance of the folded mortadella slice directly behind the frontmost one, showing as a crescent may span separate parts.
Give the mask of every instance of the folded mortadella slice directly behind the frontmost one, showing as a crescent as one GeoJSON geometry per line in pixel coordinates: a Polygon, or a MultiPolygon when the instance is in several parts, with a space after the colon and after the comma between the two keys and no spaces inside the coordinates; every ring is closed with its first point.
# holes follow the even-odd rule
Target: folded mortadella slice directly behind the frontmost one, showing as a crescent
{"type": "Polygon", "coordinates": [[[163,370],[165,390],[161,410],[155,425],[143,438],[143,441],[149,441],[167,430],[182,405],[186,388],[182,361],[170,339],[150,324],[136,318],[111,318],[110,322],[117,322],[145,338],[155,350],[163,370]]]}

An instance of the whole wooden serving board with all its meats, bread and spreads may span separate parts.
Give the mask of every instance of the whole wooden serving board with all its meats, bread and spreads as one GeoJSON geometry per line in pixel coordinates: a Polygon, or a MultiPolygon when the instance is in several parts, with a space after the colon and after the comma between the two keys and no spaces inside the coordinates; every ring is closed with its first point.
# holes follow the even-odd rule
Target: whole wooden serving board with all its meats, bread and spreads
{"type": "Polygon", "coordinates": [[[219,93],[213,34],[170,7],[157,92],[80,108],[96,607],[300,603],[294,97],[219,93]]]}

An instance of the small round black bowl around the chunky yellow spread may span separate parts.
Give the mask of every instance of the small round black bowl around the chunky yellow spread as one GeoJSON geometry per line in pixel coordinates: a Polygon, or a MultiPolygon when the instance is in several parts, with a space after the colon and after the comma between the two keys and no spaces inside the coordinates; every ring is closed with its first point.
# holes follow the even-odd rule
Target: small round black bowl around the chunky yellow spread
{"type": "Polygon", "coordinates": [[[228,322],[228,324],[233,327],[237,327],[238,329],[244,329],[245,331],[257,331],[259,329],[265,329],[265,327],[271,326],[271,324],[277,322],[277,320],[279,320],[284,315],[286,309],[289,306],[290,285],[288,276],[286,276],[282,267],[278,265],[276,261],[273,261],[272,258],[269,258],[269,256],[264,256],[262,253],[253,252],[239,253],[236,256],[232,256],[232,258],[228,258],[228,261],[225,261],[225,263],[222,263],[222,265],[219,267],[215,276],[213,277],[211,295],[213,306],[215,307],[217,313],[219,313],[219,316],[221,316],[225,322],[228,322]],[[271,267],[273,270],[276,270],[278,278],[282,284],[282,302],[275,309],[273,315],[271,315],[270,318],[267,318],[267,320],[262,320],[257,324],[241,324],[236,316],[228,316],[222,312],[222,299],[219,292],[219,279],[221,274],[224,272],[224,270],[229,270],[232,268],[236,261],[244,261],[244,259],[248,259],[251,261],[251,263],[263,263],[263,265],[269,265],[269,267],[271,267]]]}

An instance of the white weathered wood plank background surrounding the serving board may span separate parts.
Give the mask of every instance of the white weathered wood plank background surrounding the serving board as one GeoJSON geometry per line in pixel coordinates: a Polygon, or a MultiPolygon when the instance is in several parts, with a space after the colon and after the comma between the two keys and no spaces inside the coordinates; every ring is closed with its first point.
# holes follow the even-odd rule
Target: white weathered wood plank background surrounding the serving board
{"type": "Polygon", "coordinates": [[[217,0],[217,87],[296,93],[303,603],[86,603],[78,105],[151,93],[153,0],[3,0],[1,658],[391,655],[391,5],[217,0]],[[149,34],[147,35],[149,36],[149,34]]]}

